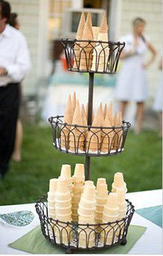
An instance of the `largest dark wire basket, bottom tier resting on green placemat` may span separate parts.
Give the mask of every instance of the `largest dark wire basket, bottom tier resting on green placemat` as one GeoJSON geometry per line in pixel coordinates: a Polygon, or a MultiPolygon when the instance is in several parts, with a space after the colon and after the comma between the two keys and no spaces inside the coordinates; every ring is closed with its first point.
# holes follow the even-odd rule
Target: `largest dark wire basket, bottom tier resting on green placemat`
{"type": "Polygon", "coordinates": [[[46,239],[68,250],[84,250],[126,244],[128,226],[135,211],[132,203],[128,200],[126,202],[126,218],[102,224],[79,224],[52,219],[48,217],[46,196],[38,200],[35,207],[41,222],[41,231],[46,239]]]}

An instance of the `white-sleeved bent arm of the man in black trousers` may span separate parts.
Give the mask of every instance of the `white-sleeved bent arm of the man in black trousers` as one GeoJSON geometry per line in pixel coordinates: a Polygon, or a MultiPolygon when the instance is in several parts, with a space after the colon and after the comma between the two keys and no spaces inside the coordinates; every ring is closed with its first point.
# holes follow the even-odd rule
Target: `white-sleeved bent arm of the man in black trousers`
{"type": "Polygon", "coordinates": [[[19,47],[15,63],[3,68],[13,81],[20,82],[26,76],[30,69],[30,54],[26,39],[23,35],[19,38],[19,47]]]}

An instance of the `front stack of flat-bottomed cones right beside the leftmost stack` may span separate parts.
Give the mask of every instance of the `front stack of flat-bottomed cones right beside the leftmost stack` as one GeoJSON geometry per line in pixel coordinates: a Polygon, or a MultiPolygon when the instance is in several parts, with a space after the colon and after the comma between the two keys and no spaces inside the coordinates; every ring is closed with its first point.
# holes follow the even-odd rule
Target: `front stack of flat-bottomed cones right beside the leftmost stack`
{"type": "MultiPolygon", "coordinates": [[[[57,180],[57,189],[55,191],[55,219],[64,222],[72,221],[71,195],[68,190],[68,180],[59,177],[57,180]]],[[[55,225],[55,236],[57,243],[68,244],[72,234],[70,226],[67,223],[55,225]]]]}

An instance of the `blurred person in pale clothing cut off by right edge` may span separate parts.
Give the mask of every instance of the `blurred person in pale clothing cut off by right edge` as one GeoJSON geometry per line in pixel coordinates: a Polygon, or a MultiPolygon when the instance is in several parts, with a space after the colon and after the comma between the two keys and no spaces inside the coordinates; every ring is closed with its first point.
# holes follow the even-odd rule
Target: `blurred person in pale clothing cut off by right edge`
{"type": "MultiPolygon", "coordinates": [[[[160,60],[159,69],[162,71],[162,60],[160,60]]],[[[158,112],[159,118],[159,137],[162,137],[162,104],[163,104],[163,74],[160,77],[160,83],[155,93],[153,109],[158,112]]]]}

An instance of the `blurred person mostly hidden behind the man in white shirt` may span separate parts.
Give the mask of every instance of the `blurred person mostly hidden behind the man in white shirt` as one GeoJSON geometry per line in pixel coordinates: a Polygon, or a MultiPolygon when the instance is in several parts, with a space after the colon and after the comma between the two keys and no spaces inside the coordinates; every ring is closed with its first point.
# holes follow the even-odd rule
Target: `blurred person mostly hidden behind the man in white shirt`
{"type": "MultiPolygon", "coordinates": [[[[12,12],[10,14],[10,19],[8,24],[13,26],[16,29],[20,28],[19,21],[17,19],[17,13],[12,12]]],[[[19,83],[19,106],[21,104],[21,84],[19,83]]],[[[21,162],[21,144],[22,144],[22,137],[23,137],[23,126],[21,123],[20,118],[17,120],[17,130],[16,130],[16,137],[15,137],[15,148],[12,153],[12,160],[15,162],[21,162]]]]}

